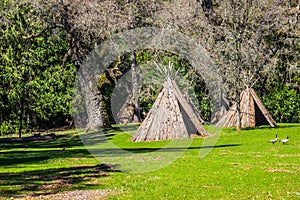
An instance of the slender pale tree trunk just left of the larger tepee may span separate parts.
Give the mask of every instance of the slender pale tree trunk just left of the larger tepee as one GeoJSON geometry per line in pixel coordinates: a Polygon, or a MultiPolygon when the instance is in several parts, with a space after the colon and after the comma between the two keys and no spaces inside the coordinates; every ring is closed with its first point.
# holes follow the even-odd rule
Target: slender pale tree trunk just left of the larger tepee
{"type": "Polygon", "coordinates": [[[141,112],[139,105],[139,91],[138,91],[138,77],[137,77],[137,62],[136,62],[136,53],[134,50],[131,51],[131,79],[132,79],[132,101],[134,104],[134,116],[133,122],[141,122],[141,112]]]}

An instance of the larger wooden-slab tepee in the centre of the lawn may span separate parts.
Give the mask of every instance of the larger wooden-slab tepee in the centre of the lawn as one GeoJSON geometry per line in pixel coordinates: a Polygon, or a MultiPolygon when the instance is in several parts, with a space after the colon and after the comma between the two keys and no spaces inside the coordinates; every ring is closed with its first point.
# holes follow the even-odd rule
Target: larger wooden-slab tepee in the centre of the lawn
{"type": "Polygon", "coordinates": [[[207,136],[202,121],[200,114],[181,94],[176,82],[167,75],[161,92],[132,141],[189,138],[191,134],[207,136]]]}

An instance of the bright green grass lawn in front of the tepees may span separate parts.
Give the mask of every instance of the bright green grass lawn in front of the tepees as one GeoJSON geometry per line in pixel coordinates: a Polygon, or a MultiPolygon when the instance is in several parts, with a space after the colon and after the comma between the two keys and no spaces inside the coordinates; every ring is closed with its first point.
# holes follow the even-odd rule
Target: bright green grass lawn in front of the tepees
{"type": "Polygon", "coordinates": [[[91,189],[109,199],[300,199],[300,124],[224,129],[215,148],[203,138],[133,143],[136,128],[0,143],[0,199],[91,189]],[[276,133],[289,144],[268,143],[276,133]]]}

